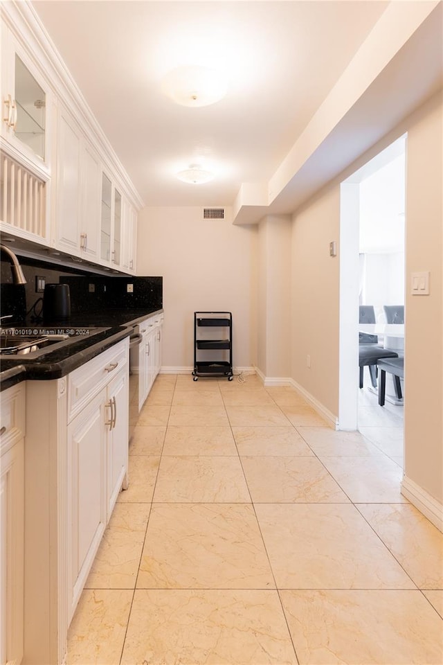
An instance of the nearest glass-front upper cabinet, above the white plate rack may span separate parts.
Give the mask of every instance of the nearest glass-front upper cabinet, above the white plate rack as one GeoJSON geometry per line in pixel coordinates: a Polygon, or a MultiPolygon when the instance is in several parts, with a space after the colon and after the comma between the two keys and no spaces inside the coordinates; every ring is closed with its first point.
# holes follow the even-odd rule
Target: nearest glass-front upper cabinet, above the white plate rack
{"type": "Polygon", "coordinates": [[[1,26],[1,137],[10,156],[49,175],[51,90],[8,26],[1,26]]]}

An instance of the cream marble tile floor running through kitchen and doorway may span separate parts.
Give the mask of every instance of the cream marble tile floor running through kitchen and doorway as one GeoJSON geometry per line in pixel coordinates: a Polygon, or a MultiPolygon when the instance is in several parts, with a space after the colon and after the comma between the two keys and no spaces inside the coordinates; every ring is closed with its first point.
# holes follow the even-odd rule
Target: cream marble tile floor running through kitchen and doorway
{"type": "Polygon", "coordinates": [[[255,376],[159,375],[68,665],[441,665],[443,535],[367,429],[255,376]]]}

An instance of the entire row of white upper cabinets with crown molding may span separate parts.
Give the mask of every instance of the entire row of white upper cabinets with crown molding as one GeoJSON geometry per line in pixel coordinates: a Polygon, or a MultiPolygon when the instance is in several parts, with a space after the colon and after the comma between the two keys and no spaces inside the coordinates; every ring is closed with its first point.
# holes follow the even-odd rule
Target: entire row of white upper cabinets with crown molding
{"type": "Polygon", "coordinates": [[[37,258],[134,274],[143,202],[118,155],[33,3],[0,1],[0,30],[1,232],[37,258]]]}

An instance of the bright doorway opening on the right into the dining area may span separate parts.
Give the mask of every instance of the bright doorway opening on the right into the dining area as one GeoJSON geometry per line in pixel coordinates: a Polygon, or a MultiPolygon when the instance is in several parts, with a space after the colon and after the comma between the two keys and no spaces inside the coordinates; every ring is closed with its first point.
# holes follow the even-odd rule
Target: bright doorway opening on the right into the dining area
{"type": "Polygon", "coordinates": [[[386,328],[390,310],[385,308],[397,305],[404,312],[405,161],[406,134],[341,184],[339,427],[359,429],[399,464],[403,399],[387,373],[380,407],[368,366],[359,388],[359,312],[361,305],[373,308],[374,327],[365,328],[377,333],[372,341],[403,357],[404,323],[386,328]]]}

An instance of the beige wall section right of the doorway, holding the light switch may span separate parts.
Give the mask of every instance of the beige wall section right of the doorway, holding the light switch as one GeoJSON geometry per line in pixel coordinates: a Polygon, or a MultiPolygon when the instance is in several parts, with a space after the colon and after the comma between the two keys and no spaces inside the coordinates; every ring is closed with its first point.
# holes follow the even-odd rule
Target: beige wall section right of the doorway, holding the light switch
{"type": "Polygon", "coordinates": [[[408,126],[406,153],[405,472],[443,504],[442,96],[408,126]],[[412,296],[412,272],[430,271],[430,294],[412,296]]]}

